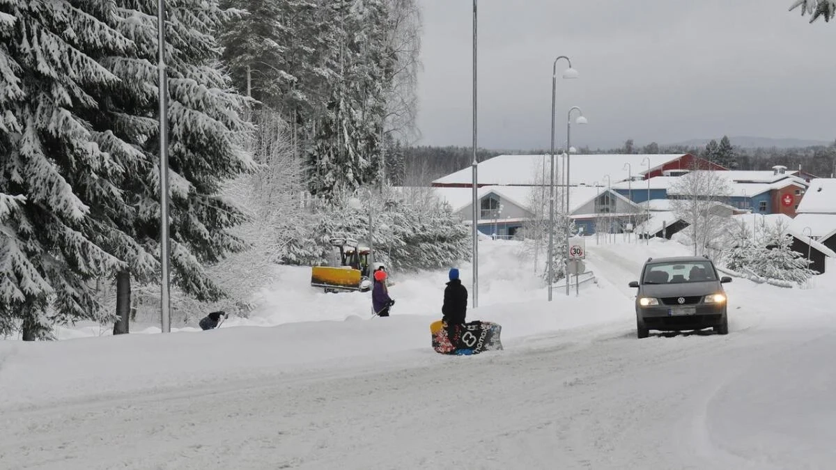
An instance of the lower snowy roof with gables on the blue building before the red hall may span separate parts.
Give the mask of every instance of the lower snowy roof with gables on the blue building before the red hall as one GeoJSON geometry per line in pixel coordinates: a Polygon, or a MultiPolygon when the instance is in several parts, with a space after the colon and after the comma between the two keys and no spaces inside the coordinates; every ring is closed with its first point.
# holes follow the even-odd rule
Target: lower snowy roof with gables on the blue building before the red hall
{"type": "MultiPolygon", "coordinates": [[[[473,202],[473,191],[469,187],[433,187],[436,194],[442,200],[449,202],[453,207],[453,212],[461,211],[465,207],[470,206],[473,202]]],[[[530,212],[531,210],[531,196],[532,192],[544,191],[545,199],[548,201],[548,186],[482,186],[477,191],[478,199],[487,196],[488,194],[496,194],[500,199],[506,199],[513,202],[519,207],[523,207],[530,212]]],[[[555,201],[559,205],[560,199],[558,194],[563,192],[563,187],[555,187],[555,201]]],[[[587,203],[594,200],[600,194],[607,192],[607,188],[603,186],[571,186],[569,187],[569,211],[578,211],[587,203]]],[[[635,205],[626,197],[621,196],[617,192],[613,192],[614,197],[635,205]]]]}

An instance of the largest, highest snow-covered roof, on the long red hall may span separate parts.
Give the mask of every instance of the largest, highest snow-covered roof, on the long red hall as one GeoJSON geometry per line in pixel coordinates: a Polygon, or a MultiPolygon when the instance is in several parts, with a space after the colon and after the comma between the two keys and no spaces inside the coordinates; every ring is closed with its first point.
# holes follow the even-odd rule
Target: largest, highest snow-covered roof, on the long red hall
{"type": "MultiPolygon", "coordinates": [[[[594,181],[604,182],[604,176],[609,175],[612,182],[623,181],[629,177],[626,169],[630,164],[633,175],[644,174],[650,161],[650,169],[656,169],[669,161],[681,158],[686,154],[666,155],[579,155],[574,154],[569,160],[569,184],[585,183],[592,185],[594,181]]],[[[545,168],[546,183],[548,184],[549,155],[501,155],[479,162],[478,184],[481,185],[533,185],[535,181],[543,181],[545,168]]],[[[554,156],[554,166],[557,174],[563,168],[563,156],[554,156]]],[[[559,181],[559,177],[557,178],[559,181]]],[[[451,173],[433,181],[433,184],[471,184],[472,169],[467,168],[451,173]]]]}

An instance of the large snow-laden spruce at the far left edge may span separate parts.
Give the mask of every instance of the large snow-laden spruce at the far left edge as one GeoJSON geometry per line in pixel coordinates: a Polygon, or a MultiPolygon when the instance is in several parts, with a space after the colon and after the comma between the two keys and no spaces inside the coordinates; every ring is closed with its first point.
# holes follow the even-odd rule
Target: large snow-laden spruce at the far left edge
{"type": "Polygon", "coordinates": [[[101,19],[113,13],[94,0],[0,1],[0,193],[25,197],[5,204],[0,318],[23,340],[47,338],[54,322],[112,318],[90,281],[127,260],[153,264],[112,222],[131,211],[120,177],[135,167],[88,119],[119,81],[94,58],[132,48],[101,19]]]}

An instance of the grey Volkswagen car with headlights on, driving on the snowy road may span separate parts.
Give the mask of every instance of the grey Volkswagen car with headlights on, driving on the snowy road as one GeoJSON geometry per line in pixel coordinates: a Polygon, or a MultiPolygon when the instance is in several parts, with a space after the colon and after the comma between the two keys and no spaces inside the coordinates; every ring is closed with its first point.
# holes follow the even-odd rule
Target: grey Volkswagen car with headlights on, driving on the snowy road
{"type": "Polygon", "coordinates": [[[649,258],[641,269],[641,281],[630,287],[635,296],[635,323],[639,338],[650,330],[682,331],[713,328],[729,332],[726,291],[714,263],[705,257],[649,258]]]}

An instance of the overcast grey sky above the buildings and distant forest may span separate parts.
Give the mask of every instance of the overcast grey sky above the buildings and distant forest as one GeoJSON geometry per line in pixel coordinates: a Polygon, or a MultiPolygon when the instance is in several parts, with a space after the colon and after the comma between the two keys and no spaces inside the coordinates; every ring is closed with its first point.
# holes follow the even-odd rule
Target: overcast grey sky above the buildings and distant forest
{"type": "MultiPolygon", "coordinates": [[[[472,0],[421,0],[421,145],[472,143],[472,0]]],[[[836,24],[792,0],[480,0],[479,146],[556,146],[578,105],[577,146],[727,135],[836,138],[836,24]]]]}

